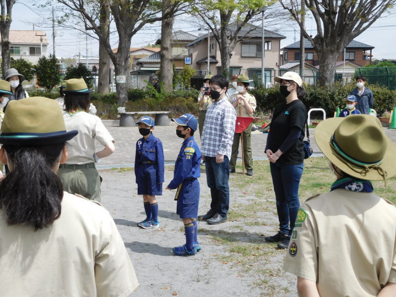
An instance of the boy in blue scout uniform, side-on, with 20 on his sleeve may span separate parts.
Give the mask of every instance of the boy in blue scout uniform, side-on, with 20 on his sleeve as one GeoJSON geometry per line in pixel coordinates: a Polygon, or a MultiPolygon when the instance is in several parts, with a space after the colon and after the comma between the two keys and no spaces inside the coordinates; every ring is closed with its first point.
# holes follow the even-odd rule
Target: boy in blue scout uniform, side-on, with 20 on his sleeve
{"type": "Polygon", "coordinates": [[[198,203],[199,203],[199,163],[202,158],[194,132],[198,129],[198,120],[190,113],[183,114],[178,119],[172,119],[178,126],[176,135],[184,139],[175,163],[173,180],[166,187],[167,190],[177,189],[176,213],[184,223],[186,244],[173,247],[175,255],[195,255],[201,249],[198,243],[198,203]]]}

